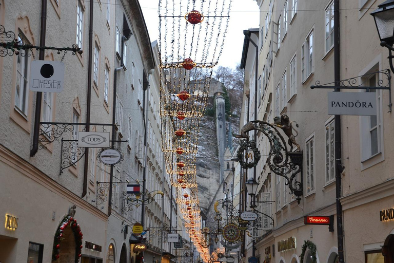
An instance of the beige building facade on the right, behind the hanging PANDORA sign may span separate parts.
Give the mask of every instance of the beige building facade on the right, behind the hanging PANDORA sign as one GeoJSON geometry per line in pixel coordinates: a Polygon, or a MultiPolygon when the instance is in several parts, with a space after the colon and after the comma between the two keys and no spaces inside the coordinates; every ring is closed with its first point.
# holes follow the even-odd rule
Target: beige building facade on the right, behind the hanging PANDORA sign
{"type": "MultiPolygon", "coordinates": [[[[246,258],[252,255],[254,246],[260,262],[313,262],[310,256],[314,256],[315,249],[317,262],[337,262],[335,127],[327,106],[327,92],[332,89],[310,88],[317,81],[320,84],[334,81],[333,1],[264,0],[257,4],[260,28],[244,32],[258,44],[259,56],[256,61],[255,47],[245,36],[240,128],[248,116],[249,120],[255,119],[254,93],[258,96],[257,119],[273,123],[274,117],[286,114],[290,121],[299,124],[299,128],[294,127],[297,134],[293,133],[303,152],[303,172],[296,177],[303,183],[303,195],[298,203],[286,181],[270,171],[268,140],[258,134],[262,158],[255,179],[260,184],[257,200],[264,203],[259,203],[257,210],[266,214],[269,211],[273,220],[267,219],[271,227],[263,225],[256,229],[257,235],[246,239],[246,258]],[[328,226],[305,224],[304,217],[308,215],[333,216],[333,231],[328,226]]],[[[369,15],[379,4],[379,1],[340,1],[340,78],[354,78],[353,85],[376,87],[388,83],[386,75],[378,72],[389,68],[388,52],[379,45],[376,26],[369,15]]],[[[365,89],[342,91],[365,92],[365,89]]],[[[345,169],[341,175],[340,200],[345,262],[391,262],[387,260],[394,251],[394,225],[390,219],[393,176],[388,161],[392,145],[387,139],[392,133],[392,121],[388,96],[387,90],[376,90],[376,117],[341,117],[345,169]]],[[[253,177],[253,170],[249,169],[245,177],[253,177]]]]}

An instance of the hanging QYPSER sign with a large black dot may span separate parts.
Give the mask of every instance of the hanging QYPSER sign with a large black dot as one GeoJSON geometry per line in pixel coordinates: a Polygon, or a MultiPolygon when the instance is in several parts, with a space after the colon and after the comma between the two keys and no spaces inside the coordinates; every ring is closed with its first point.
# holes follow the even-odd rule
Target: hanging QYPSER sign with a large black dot
{"type": "Polygon", "coordinates": [[[42,92],[62,92],[64,63],[60,61],[34,60],[30,65],[29,89],[42,92]]]}

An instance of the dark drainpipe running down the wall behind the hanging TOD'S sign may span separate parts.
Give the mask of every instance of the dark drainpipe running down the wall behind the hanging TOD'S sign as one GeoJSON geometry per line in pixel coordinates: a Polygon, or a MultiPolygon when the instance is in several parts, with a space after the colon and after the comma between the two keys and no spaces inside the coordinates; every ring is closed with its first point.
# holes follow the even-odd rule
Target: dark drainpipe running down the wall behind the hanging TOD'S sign
{"type": "MultiPolygon", "coordinates": [[[[86,100],[86,132],[90,131],[90,102],[92,92],[92,57],[93,57],[93,1],[90,1],[89,6],[89,55],[88,55],[88,90],[86,100]]],[[[84,187],[82,196],[87,193],[88,187],[88,167],[89,167],[89,148],[85,149],[84,159],[84,187]]]]}

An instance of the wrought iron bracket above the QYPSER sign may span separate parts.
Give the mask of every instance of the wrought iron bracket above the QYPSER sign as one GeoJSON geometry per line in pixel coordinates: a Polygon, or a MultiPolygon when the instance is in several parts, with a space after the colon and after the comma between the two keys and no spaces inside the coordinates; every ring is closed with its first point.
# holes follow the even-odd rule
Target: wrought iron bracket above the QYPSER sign
{"type": "MultiPolygon", "coordinates": [[[[13,31],[6,31],[3,25],[0,25],[0,57],[6,57],[7,55],[12,56],[14,53],[16,55],[19,54],[19,51],[24,50],[25,52],[22,53],[23,56],[28,55],[26,50],[29,49],[36,49],[36,50],[57,50],[57,53],[60,54],[61,51],[72,51],[72,54],[75,55],[76,53],[82,54],[81,48],[77,47],[75,44],[72,47],[41,47],[41,46],[33,46],[30,44],[25,44],[24,42],[24,35],[19,33],[15,35],[13,31]]],[[[33,55],[34,57],[34,55],[33,55]]]]}

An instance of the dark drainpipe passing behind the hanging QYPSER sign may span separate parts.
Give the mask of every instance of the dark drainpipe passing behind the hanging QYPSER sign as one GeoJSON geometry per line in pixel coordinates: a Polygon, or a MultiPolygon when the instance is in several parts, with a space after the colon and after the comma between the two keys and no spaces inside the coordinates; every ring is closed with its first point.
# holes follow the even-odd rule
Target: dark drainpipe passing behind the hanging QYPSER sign
{"type": "MultiPolygon", "coordinates": [[[[45,46],[45,38],[47,31],[47,0],[41,1],[41,31],[40,31],[40,47],[45,46]]],[[[45,59],[45,50],[40,49],[38,59],[45,59]]],[[[30,150],[30,157],[33,157],[38,151],[38,137],[40,134],[40,120],[41,120],[41,102],[43,100],[43,93],[37,92],[35,99],[35,113],[34,113],[34,130],[33,130],[33,147],[30,150]]]]}

